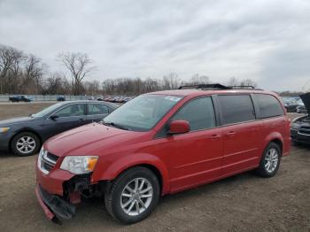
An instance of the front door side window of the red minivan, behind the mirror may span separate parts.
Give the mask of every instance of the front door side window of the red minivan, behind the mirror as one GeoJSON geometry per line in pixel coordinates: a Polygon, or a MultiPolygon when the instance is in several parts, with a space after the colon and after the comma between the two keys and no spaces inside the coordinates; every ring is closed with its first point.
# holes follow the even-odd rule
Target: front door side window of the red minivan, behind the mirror
{"type": "Polygon", "coordinates": [[[200,97],[185,104],[173,120],[187,120],[190,131],[215,127],[215,115],[211,97],[200,97]]]}

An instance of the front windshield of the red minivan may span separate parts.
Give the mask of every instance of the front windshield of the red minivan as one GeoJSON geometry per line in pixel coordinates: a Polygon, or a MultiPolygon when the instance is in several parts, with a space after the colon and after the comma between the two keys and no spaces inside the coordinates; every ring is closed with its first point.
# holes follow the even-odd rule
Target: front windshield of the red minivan
{"type": "Polygon", "coordinates": [[[142,95],[106,116],[104,123],[128,130],[147,131],[181,99],[180,96],[142,95]]]}

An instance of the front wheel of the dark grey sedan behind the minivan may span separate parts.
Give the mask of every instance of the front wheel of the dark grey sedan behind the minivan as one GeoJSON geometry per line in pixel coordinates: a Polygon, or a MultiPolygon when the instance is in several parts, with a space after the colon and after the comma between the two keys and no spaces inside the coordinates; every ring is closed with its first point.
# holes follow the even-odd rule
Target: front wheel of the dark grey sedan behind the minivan
{"type": "Polygon", "coordinates": [[[11,142],[12,152],[21,157],[32,156],[40,149],[40,139],[31,132],[21,132],[15,135],[11,142]]]}

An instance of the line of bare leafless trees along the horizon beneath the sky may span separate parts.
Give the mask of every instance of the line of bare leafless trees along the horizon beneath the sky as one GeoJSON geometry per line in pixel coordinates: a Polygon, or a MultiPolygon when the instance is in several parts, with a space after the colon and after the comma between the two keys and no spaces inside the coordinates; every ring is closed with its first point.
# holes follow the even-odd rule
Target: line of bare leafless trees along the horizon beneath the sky
{"type": "MultiPolygon", "coordinates": [[[[0,44],[0,94],[136,96],[151,91],[177,89],[180,85],[213,82],[208,76],[199,74],[191,76],[189,81],[183,81],[174,72],[167,73],[162,78],[126,77],[86,81],[89,74],[97,69],[88,54],[62,52],[58,54],[57,60],[69,74],[50,72],[41,58],[0,44]]],[[[238,80],[236,77],[229,78],[223,84],[257,87],[255,81],[238,80]]]]}

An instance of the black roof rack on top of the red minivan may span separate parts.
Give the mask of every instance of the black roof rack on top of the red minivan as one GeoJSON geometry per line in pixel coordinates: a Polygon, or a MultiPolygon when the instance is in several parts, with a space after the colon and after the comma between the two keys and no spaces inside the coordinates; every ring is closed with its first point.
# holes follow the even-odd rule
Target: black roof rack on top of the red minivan
{"type": "Polygon", "coordinates": [[[252,85],[237,85],[237,86],[225,86],[219,83],[215,84],[199,84],[199,85],[183,85],[180,86],[178,89],[214,89],[214,90],[221,90],[221,89],[253,89],[253,90],[261,90],[261,89],[256,89],[252,85]]]}

